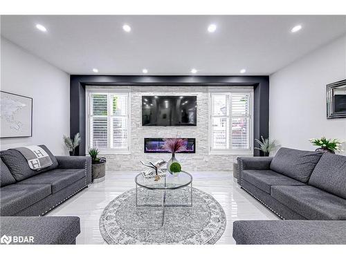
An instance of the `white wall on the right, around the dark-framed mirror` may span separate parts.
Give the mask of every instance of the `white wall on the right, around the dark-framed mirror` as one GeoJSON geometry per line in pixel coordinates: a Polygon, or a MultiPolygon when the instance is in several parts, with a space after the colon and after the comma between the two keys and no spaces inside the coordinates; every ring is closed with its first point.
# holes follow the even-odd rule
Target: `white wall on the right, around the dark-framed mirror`
{"type": "Polygon", "coordinates": [[[308,141],[311,137],[346,141],[346,118],[327,119],[326,115],[326,85],[343,79],[345,36],[271,75],[271,139],[282,146],[311,151],[316,149],[308,141]]]}

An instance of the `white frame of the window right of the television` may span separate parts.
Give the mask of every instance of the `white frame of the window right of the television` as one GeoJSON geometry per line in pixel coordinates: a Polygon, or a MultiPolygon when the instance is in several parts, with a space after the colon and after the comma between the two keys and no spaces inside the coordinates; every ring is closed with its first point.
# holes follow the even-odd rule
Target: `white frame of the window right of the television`
{"type": "Polygon", "coordinates": [[[242,87],[239,89],[210,89],[208,92],[208,151],[209,155],[253,155],[253,87],[242,87]],[[232,94],[246,93],[249,95],[249,114],[248,115],[232,115],[232,94]],[[219,116],[229,118],[229,145],[230,148],[212,148],[212,95],[228,95],[230,100],[228,103],[228,116],[219,116]],[[235,149],[232,148],[232,119],[233,118],[248,118],[249,119],[249,148],[235,149]]]}

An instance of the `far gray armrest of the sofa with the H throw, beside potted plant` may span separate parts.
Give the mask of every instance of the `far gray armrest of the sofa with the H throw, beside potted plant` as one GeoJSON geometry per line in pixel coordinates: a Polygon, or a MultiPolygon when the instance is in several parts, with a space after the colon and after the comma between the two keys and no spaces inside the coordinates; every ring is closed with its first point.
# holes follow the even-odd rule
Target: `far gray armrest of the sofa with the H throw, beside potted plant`
{"type": "Polygon", "coordinates": [[[91,184],[91,157],[57,155],[57,168],[60,169],[84,169],[86,172],[86,184],[91,184]]]}

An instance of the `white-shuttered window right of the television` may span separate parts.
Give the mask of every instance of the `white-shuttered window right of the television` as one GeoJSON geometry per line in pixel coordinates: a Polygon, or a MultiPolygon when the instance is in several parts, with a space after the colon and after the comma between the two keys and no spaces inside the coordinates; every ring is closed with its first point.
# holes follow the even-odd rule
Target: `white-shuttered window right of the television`
{"type": "Polygon", "coordinates": [[[252,154],[253,90],[210,93],[210,152],[252,154]]]}

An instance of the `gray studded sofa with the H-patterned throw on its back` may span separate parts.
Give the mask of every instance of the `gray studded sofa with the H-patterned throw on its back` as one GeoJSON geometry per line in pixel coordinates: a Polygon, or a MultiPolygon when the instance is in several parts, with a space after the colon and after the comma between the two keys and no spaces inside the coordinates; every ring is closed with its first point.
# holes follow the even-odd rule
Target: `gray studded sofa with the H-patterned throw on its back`
{"type": "Polygon", "coordinates": [[[17,150],[1,151],[0,215],[44,215],[91,184],[91,157],[54,156],[53,164],[31,170],[17,150]]]}

